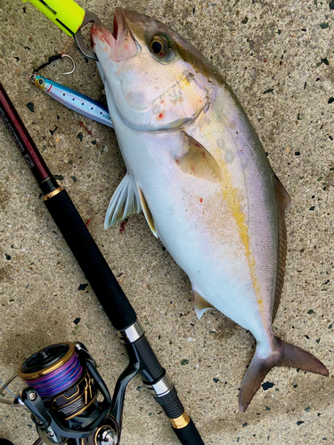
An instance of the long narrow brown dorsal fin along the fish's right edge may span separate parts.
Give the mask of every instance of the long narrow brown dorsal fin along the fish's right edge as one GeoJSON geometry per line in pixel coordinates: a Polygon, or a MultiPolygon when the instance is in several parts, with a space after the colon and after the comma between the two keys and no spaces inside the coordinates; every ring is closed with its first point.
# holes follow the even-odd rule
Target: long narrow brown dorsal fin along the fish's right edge
{"type": "Polygon", "coordinates": [[[275,198],[277,205],[277,219],[278,219],[278,267],[276,278],[276,291],[273,301],[273,315],[272,320],[276,316],[276,312],[281,301],[281,289],[283,287],[285,259],[287,256],[287,229],[285,226],[285,211],[291,206],[291,199],[289,198],[287,190],[284,189],[281,181],[276,174],[273,174],[275,198]]]}

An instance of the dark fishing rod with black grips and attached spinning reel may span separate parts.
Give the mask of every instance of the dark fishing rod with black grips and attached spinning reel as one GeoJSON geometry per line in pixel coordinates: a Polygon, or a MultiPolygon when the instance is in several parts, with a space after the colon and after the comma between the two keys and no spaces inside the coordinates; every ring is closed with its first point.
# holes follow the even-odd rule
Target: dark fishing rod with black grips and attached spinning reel
{"type": "Polygon", "coordinates": [[[15,403],[24,404],[30,410],[40,440],[45,443],[63,444],[66,441],[69,445],[118,445],[126,385],[139,374],[143,384],[170,419],[179,441],[183,445],[204,445],[200,433],[178,398],[175,385],[160,365],[145,337],[134,308],[127,300],[67,191],[59,186],[46,166],[1,84],[0,117],[12,134],[12,139],[31,173],[37,179],[44,195],[45,206],[85,273],[111,324],[117,329],[119,340],[124,344],[129,358],[128,366],[118,377],[111,400],[85,345],[78,343],[48,346],[33,354],[20,367],[18,374],[29,386],[20,393],[15,403]],[[61,378],[61,382],[58,378],[61,378]],[[40,393],[45,384],[46,392],[40,393]],[[85,391],[80,390],[81,387],[85,388],[85,391]],[[91,399],[86,397],[87,388],[91,399]],[[97,401],[98,392],[103,395],[102,402],[97,401]],[[61,397],[70,398],[73,394],[82,393],[85,393],[85,397],[82,396],[81,403],[75,399],[72,410],[68,412],[69,407],[61,397]],[[51,404],[50,400],[53,401],[51,404]],[[100,439],[97,437],[99,432],[102,434],[100,439]]]}

